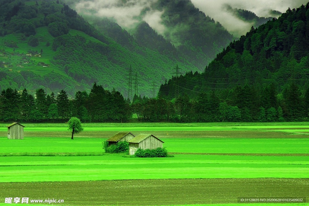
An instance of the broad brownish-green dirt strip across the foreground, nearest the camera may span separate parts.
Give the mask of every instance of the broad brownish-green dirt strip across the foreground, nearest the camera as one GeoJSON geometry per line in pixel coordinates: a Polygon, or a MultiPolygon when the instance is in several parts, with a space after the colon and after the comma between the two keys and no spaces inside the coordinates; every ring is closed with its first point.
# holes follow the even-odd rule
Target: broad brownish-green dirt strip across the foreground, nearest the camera
{"type": "Polygon", "coordinates": [[[0,183],[0,201],[4,202],[5,197],[63,199],[64,203],[60,205],[237,203],[239,197],[309,198],[309,179],[145,179],[0,183]]]}

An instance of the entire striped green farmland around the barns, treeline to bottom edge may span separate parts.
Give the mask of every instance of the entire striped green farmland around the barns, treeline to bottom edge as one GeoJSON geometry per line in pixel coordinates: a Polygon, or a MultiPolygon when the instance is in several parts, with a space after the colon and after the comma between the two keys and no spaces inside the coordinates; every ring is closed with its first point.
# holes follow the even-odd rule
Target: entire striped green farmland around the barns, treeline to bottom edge
{"type": "Polygon", "coordinates": [[[25,139],[8,140],[6,125],[0,206],[13,196],[65,200],[58,205],[228,206],[239,197],[309,197],[308,123],[83,124],[74,140],[67,124],[24,124],[25,139]],[[102,141],[116,131],[152,133],[175,157],[106,154],[102,141]]]}

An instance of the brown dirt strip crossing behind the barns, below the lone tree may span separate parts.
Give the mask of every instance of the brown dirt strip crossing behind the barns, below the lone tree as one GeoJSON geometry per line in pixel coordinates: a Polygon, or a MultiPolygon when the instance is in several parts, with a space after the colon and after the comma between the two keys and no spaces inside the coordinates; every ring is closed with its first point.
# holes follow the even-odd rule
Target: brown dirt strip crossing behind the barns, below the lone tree
{"type": "MultiPolygon", "coordinates": [[[[128,131],[129,132],[129,131],[128,131]]],[[[87,131],[74,135],[74,137],[109,138],[117,131],[87,131]]],[[[270,132],[259,130],[240,131],[133,131],[134,135],[141,133],[153,134],[159,138],[309,138],[307,134],[289,132],[270,132]]],[[[70,131],[25,131],[25,137],[71,137],[70,131]]],[[[0,132],[0,137],[6,137],[7,132],[0,132]]]]}

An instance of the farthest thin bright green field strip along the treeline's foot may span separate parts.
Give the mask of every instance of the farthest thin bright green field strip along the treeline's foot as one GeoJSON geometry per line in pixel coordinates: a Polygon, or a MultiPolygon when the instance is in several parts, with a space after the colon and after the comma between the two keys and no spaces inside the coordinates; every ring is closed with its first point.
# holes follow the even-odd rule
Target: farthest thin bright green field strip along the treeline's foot
{"type": "MultiPolygon", "coordinates": [[[[21,123],[23,124],[23,123],[21,123]]],[[[1,123],[1,131],[6,129],[8,124],[1,123]]],[[[25,130],[28,131],[66,131],[67,123],[50,123],[50,124],[33,124],[25,123],[25,130]]],[[[131,130],[147,131],[151,130],[164,130],[177,131],[177,130],[205,130],[205,131],[221,131],[221,130],[252,130],[252,129],[284,129],[284,128],[303,128],[309,129],[308,122],[279,122],[279,123],[84,123],[82,124],[87,131],[117,131],[117,130],[131,130]]]]}

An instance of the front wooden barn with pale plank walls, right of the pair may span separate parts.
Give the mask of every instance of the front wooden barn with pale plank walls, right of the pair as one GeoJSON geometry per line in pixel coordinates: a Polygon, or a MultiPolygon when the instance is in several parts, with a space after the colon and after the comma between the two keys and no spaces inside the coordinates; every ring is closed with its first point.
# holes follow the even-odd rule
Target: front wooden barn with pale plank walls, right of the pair
{"type": "Polygon", "coordinates": [[[138,148],[141,149],[157,149],[163,147],[163,141],[152,134],[139,134],[129,140],[129,154],[133,155],[138,148]]]}

